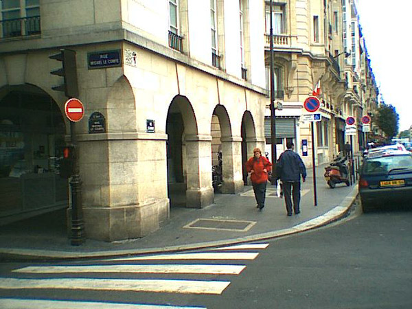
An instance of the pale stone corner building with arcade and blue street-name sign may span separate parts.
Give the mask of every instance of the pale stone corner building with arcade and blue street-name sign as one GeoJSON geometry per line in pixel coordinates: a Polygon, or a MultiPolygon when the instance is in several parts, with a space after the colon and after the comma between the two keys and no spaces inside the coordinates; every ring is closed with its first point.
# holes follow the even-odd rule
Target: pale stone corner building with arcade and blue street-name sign
{"type": "Polygon", "coordinates": [[[170,208],[213,203],[212,123],[222,191],[242,190],[242,162],[264,146],[264,1],[16,0],[1,2],[1,16],[3,222],[67,207],[56,174],[67,98],[52,90],[62,78],[49,59],[59,49],[76,52],[84,104],[88,238],[145,236],[170,208]],[[105,121],[97,133],[93,113],[105,121]]]}

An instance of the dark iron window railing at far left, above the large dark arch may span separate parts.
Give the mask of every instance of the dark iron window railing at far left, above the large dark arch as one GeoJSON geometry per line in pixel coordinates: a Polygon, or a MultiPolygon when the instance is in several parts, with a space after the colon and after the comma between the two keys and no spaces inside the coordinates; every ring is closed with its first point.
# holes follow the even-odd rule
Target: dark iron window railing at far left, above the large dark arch
{"type": "Polygon", "coordinates": [[[15,38],[19,36],[41,34],[40,16],[0,21],[0,31],[2,38],[15,38]]]}

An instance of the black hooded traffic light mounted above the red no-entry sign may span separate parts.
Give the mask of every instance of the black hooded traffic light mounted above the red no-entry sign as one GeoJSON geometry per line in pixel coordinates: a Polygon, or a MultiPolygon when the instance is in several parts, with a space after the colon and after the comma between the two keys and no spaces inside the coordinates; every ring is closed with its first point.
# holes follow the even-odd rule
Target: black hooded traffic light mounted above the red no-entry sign
{"type": "Polygon", "coordinates": [[[52,89],[64,91],[69,98],[78,98],[76,52],[71,49],[60,49],[60,53],[49,56],[49,58],[62,62],[62,68],[51,71],[50,73],[64,78],[64,84],[52,87],[52,89]]]}

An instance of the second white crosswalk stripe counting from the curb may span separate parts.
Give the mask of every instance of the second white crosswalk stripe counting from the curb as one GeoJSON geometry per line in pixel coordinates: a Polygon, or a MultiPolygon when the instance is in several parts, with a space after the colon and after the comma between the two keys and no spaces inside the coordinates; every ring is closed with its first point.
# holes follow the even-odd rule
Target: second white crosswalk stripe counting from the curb
{"type": "Polygon", "coordinates": [[[104,261],[141,261],[141,260],[255,260],[257,252],[198,252],[176,253],[148,256],[135,256],[132,258],[114,258],[104,261]]]}

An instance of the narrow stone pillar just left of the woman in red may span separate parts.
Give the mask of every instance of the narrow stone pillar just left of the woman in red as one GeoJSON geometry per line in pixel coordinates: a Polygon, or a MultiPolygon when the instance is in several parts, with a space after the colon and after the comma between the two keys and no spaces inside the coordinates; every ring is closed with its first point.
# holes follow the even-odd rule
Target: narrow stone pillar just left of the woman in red
{"type": "Polygon", "coordinates": [[[222,193],[242,192],[242,137],[221,137],[220,141],[222,141],[222,193]]]}

